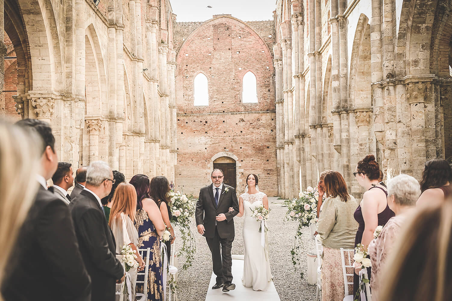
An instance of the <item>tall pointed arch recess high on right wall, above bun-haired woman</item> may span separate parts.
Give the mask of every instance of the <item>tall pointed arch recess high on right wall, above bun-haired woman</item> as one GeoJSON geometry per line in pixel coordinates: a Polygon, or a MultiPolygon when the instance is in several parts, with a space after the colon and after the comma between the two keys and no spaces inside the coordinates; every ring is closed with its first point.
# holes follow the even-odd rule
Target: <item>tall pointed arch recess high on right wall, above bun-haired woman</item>
{"type": "Polygon", "coordinates": [[[370,24],[361,14],[356,26],[350,59],[349,99],[351,107],[372,107],[370,24]]]}

